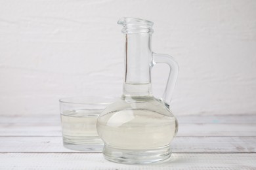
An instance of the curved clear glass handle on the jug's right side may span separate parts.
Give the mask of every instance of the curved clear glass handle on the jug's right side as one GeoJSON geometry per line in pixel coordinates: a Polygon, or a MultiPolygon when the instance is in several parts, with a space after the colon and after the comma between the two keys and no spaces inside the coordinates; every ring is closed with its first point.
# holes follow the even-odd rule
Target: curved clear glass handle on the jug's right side
{"type": "Polygon", "coordinates": [[[165,86],[165,90],[161,97],[161,100],[163,100],[169,107],[169,104],[171,103],[171,97],[173,95],[173,90],[175,88],[176,80],[179,73],[179,65],[173,57],[167,54],[156,54],[154,52],[152,54],[153,54],[153,66],[156,65],[157,63],[166,63],[170,67],[167,84],[165,86]]]}

